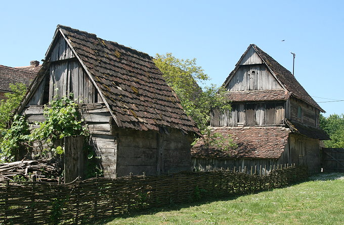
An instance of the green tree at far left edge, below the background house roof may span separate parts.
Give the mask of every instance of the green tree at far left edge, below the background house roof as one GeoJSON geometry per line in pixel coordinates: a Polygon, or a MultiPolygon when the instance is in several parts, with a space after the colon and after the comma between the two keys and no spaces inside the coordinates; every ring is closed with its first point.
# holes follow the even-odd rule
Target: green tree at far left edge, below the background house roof
{"type": "Polygon", "coordinates": [[[19,106],[27,90],[22,83],[10,84],[10,88],[12,92],[5,93],[7,99],[0,101],[0,130],[6,129],[12,111],[19,106]]]}

